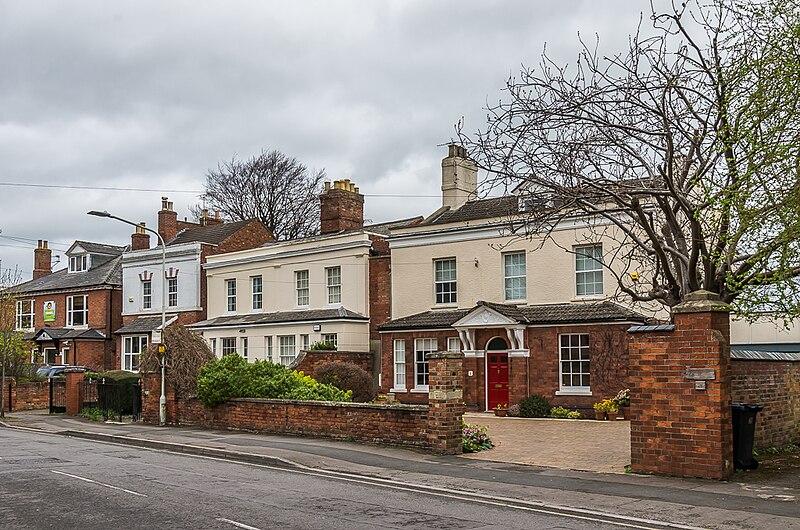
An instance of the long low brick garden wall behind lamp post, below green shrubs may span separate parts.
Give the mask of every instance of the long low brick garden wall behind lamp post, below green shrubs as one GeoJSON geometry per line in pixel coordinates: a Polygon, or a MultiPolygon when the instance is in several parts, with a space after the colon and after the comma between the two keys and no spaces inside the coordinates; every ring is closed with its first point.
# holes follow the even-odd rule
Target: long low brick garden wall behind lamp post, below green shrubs
{"type": "MultiPolygon", "coordinates": [[[[157,375],[146,374],[143,384],[142,419],[157,424],[160,379],[157,375]]],[[[208,409],[195,398],[175,399],[174,394],[168,391],[167,421],[212,429],[431,447],[424,436],[428,423],[428,407],[425,405],[234,399],[208,409]]]]}

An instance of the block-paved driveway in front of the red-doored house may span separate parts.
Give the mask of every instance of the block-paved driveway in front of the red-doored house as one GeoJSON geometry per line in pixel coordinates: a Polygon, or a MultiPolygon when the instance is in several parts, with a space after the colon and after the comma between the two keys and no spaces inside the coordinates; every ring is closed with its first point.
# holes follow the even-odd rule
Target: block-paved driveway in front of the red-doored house
{"type": "Polygon", "coordinates": [[[464,421],[488,427],[491,451],[464,455],[473,460],[624,473],[631,463],[628,421],[498,418],[467,413],[464,421]]]}

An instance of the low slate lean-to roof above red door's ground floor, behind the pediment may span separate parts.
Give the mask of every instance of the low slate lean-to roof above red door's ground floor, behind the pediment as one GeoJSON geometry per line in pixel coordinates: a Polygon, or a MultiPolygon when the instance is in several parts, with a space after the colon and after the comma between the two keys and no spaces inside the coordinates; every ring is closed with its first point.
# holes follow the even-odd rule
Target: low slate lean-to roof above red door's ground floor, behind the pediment
{"type": "Polygon", "coordinates": [[[527,325],[585,324],[590,322],[645,322],[647,320],[644,315],[631,311],[614,302],[582,302],[534,306],[478,302],[472,309],[425,311],[424,313],[397,318],[378,326],[378,329],[381,331],[391,331],[449,328],[480,306],[493,309],[503,316],[516,320],[520,324],[527,325]]]}

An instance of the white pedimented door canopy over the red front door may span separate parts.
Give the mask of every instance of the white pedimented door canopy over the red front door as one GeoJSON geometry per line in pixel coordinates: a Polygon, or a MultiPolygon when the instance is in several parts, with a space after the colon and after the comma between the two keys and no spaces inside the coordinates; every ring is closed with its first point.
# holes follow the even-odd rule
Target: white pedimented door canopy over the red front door
{"type": "Polygon", "coordinates": [[[483,357],[485,350],[479,348],[475,332],[479,329],[505,330],[510,349],[509,357],[530,357],[530,350],[525,347],[525,328],[527,318],[514,305],[478,302],[465,316],[453,324],[461,339],[464,357],[483,357]]]}

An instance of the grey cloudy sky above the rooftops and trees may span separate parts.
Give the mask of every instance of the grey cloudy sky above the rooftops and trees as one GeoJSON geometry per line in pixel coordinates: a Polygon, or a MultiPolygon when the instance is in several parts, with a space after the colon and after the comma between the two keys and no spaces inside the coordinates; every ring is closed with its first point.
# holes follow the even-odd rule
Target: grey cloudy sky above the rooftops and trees
{"type": "MultiPolygon", "coordinates": [[[[375,222],[440,205],[441,146],[502,97],[545,43],[624,48],[649,2],[0,0],[0,260],[33,268],[36,239],[126,244],[108,210],[180,216],[208,168],[278,149],[351,178],[375,222]],[[164,190],[186,190],[181,193],[164,190]],[[412,199],[371,197],[415,195],[412,199]]],[[[63,264],[63,260],[62,260],[63,264]]]]}

